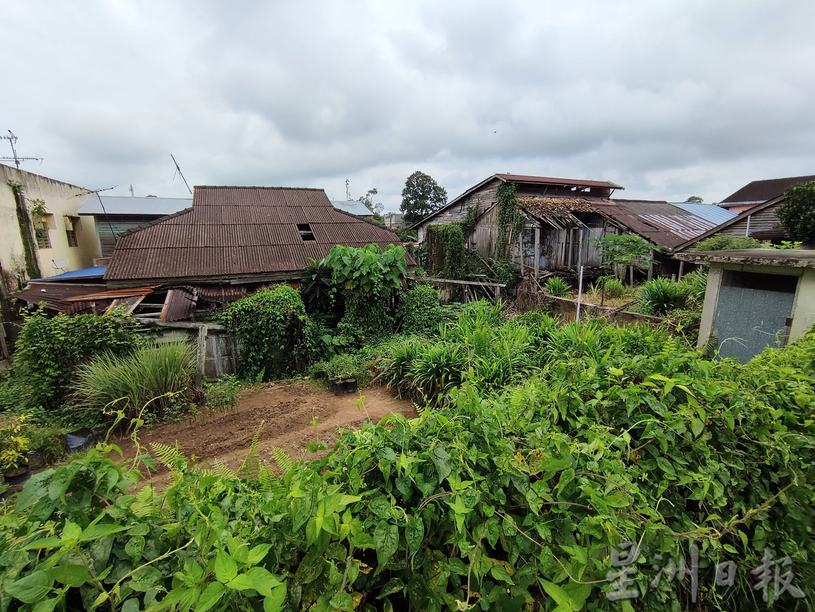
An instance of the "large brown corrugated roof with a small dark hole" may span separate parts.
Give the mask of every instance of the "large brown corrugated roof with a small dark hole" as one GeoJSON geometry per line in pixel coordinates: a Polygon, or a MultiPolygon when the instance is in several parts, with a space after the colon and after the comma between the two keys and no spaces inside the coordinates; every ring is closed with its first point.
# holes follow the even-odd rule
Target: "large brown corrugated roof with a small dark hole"
{"type": "Polygon", "coordinates": [[[371,243],[401,244],[393,231],[335,209],[322,189],[196,187],[192,210],[119,236],[105,280],[295,273],[335,244],[371,243]],[[298,224],[314,240],[303,240],[298,224]]]}

